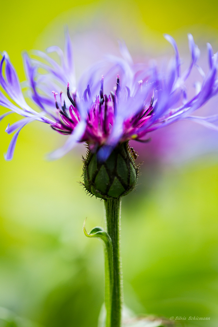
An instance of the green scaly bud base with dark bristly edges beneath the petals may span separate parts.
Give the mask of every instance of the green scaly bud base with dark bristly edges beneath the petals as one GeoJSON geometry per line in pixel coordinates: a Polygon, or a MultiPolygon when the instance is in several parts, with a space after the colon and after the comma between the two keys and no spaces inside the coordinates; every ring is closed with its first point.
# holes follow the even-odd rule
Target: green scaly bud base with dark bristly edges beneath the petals
{"type": "Polygon", "coordinates": [[[105,162],[98,162],[96,153],[88,150],[83,158],[82,183],[96,198],[119,198],[131,192],[136,185],[139,168],[137,158],[128,143],[117,146],[105,162]]]}

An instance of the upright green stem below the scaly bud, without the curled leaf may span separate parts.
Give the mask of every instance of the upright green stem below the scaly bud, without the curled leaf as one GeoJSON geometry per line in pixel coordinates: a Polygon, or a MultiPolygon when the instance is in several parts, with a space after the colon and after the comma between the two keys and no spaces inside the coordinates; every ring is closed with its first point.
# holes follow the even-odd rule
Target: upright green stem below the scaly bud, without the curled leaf
{"type": "MultiPolygon", "coordinates": [[[[108,287],[106,283],[105,295],[106,299],[111,299],[111,305],[107,309],[107,327],[121,327],[121,311],[122,311],[122,271],[120,258],[120,214],[121,214],[121,198],[104,200],[105,213],[107,221],[107,232],[112,241],[113,249],[113,284],[108,287]],[[110,291],[110,295],[108,292],[110,291]],[[108,317],[110,315],[110,317],[108,317]],[[109,323],[109,325],[107,324],[109,323]]],[[[106,265],[106,269],[108,269],[106,265]]],[[[108,272],[106,271],[106,276],[108,272]]]]}

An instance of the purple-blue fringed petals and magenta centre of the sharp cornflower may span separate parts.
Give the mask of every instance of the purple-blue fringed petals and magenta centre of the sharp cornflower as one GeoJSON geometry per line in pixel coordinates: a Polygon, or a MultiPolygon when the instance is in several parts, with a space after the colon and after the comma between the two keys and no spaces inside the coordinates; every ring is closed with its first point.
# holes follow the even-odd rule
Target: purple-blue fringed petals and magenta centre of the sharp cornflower
{"type": "Polygon", "coordinates": [[[11,112],[25,117],[6,129],[8,134],[15,132],[6,160],[13,157],[20,130],[33,120],[47,123],[61,134],[69,134],[64,146],[50,154],[53,159],[69,152],[77,142],[86,142],[100,160],[106,160],[118,144],[129,140],[144,142],[151,131],[183,119],[218,130],[214,124],[218,114],[207,117],[192,115],[218,93],[218,53],[213,54],[208,44],[209,70],[205,74],[198,66],[200,51],[189,34],[191,63],[181,73],[176,42],[169,35],[165,38],[172,44],[175,57],[162,69],[155,62],[150,67],[134,64],[126,45],[121,43],[122,57],[108,56],[96,63],[81,77],[77,87],[68,33],[64,52],[59,47],[47,49],[47,52],[57,52],[60,64],[43,52],[36,52],[40,60],[25,54],[28,95],[39,107],[39,112],[26,103],[16,71],[4,52],[0,63],[0,84],[17,106],[0,93],[0,105],[11,110],[0,116],[0,120],[11,112]],[[40,74],[39,68],[46,73],[40,74]],[[193,71],[197,76],[195,95],[190,97],[187,80],[193,71]],[[100,77],[102,73],[104,77],[100,77]],[[104,92],[104,85],[109,92],[104,92]]]}

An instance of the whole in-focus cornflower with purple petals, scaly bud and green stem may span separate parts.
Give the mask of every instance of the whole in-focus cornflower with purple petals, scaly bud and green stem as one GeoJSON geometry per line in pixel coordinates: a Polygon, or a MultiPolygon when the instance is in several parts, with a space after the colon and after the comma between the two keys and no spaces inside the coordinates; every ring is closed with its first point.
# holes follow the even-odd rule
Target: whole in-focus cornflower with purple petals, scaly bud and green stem
{"type": "Polygon", "coordinates": [[[172,44],[175,57],[162,69],[155,62],[149,67],[134,64],[125,44],[121,43],[122,57],[109,56],[92,66],[77,86],[68,33],[64,52],[56,46],[47,49],[48,53],[59,55],[60,63],[43,52],[36,52],[40,60],[24,54],[29,97],[39,111],[26,103],[6,52],[0,62],[0,85],[16,103],[0,92],[0,105],[10,110],[0,116],[0,120],[11,112],[24,117],[6,129],[8,134],[15,132],[6,160],[13,157],[21,129],[34,120],[50,125],[60,134],[69,135],[64,146],[50,154],[53,159],[65,155],[78,142],[85,142],[88,146],[83,166],[84,186],[92,195],[104,199],[107,232],[100,227],[94,228],[90,234],[84,227],[84,232],[89,237],[101,238],[105,243],[106,327],[121,326],[120,205],[121,197],[135,187],[138,177],[137,155],[128,146],[128,141],[147,142],[150,132],[183,119],[218,130],[214,124],[218,114],[207,117],[192,115],[218,93],[218,53],[213,54],[208,44],[209,70],[205,74],[198,65],[200,51],[189,35],[191,62],[181,73],[176,42],[169,35],[165,38],[172,44]],[[40,73],[39,69],[46,73],[40,73]],[[196,80],[195,95],[190,97],[186,85],[193,70],[198,72],[201,81],[196,80]],[[101,78],[100,71],[104,73],[101,78]],[[111,77],[114,80],[112,86],[111,77]],[[108,87],[109,84],[109,93],[104,92],[104,85],[108,87]]]}

